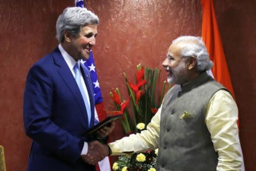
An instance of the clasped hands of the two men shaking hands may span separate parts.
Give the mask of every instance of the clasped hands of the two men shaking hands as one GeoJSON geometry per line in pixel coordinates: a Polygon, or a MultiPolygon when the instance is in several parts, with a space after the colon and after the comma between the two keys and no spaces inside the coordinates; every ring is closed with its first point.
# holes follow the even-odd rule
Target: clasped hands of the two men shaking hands
{"type": "Polygon", "coordinates": [[[82,155],[82,160],[91,165],[96,165],[97,162],[103,160],[110,155],[110,148],[107,144],[102,144],[99,141],[91,141],[88,143],[88,151],[86,155],[82,155]]]}

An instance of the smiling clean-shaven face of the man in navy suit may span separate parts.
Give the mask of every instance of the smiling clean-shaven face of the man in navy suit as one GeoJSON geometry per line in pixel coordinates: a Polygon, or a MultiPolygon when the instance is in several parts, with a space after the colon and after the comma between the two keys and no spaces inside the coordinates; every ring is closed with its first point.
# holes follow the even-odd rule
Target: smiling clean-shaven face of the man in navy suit
{"type": "Polygon", "coordinates": [[[82,27],[77,37],[66,33],[67,46],[65,50],[75,61],[79,59],[87,60],[90,57],[91,48],[95,45],[97,34],[97,25],[82,27]]]}

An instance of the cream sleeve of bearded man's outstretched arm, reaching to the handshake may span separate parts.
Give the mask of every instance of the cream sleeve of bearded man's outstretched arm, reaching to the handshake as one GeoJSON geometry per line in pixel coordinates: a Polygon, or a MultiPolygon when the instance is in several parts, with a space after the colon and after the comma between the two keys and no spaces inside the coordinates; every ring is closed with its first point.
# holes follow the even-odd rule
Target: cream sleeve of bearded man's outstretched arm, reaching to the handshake
{"type": "Polygon", "coordinates": [[[160,131],[160,116],[162,106],[158,109],[151,122],[147,125],[147,129],[141,133],[123,137],[120,140],[110,143],[112,155],[123,155],[126,153],[138,153],[146,149],[155,149],[158,147],[159,131],[160,131]]]}

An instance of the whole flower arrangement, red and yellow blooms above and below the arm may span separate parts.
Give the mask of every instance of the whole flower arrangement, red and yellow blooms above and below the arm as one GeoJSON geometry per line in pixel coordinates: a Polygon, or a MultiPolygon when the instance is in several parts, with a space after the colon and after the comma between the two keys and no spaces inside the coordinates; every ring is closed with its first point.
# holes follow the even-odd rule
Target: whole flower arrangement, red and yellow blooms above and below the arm
{"type": "MultiPolygon", "coordinates": [[[[146,125],[160,107],[166,89],[166,81],[162,87],[159,83],[161,70],[155,68],[144,68],[141,64],[137,66],[136,82],[132,83],[123,73],[127,86],[129,98],[124,100],[119,89],[110,92],[114,101],[116,111],[111,111],[112,115],[123,114],[121,124],[126,135],[141,132],[146,129],[146,125]],[[161,87],[161,89],[160,89],[161,87]],[[130,108],[128,108],[128,106],[130,108]],[[130,115],[131,113],[131,115],[130,115]]],[[[170,88],[170,86],[169,86],[170,88]]],[[[168,88],[168,89],[169,89],[168,88]]],[[[113,170],[155,170],[158,150],[148,150],[139,154],[120,156],[114,162],[113,170]]]]}

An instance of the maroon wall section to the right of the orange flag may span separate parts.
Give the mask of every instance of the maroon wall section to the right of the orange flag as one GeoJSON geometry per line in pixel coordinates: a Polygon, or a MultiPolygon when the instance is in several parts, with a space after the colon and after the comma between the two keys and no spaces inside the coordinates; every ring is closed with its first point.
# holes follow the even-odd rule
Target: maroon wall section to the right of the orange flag
{"type": "Polygon", "coordinates": [[[215,10],[239,109],[246,170],[256,161],[256,1],[216,1],[215,10]]]}

